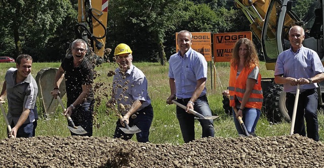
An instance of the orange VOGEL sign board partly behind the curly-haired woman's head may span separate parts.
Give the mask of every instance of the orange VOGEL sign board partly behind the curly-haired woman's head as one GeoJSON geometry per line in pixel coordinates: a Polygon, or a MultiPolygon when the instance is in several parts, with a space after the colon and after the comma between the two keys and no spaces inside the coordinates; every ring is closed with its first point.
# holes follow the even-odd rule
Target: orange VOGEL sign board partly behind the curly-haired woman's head
{"type": "Polygon", "coordinates": [[[232,32],[214,34],[214,62],[230,62],[235,42],[240,38],[252,40],[252,32],[232,32]]]}

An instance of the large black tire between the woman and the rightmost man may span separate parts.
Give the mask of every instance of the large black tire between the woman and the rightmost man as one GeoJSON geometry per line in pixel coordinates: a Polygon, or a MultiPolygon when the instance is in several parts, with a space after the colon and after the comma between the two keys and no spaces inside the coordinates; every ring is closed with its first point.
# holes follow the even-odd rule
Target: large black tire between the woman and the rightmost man
{"type": "Polygon", "coordinates": [[[290,122],[286,107],[286,92],[282,85],[272,83],[263,97],[262,111],[269,122],[290,122]]]}

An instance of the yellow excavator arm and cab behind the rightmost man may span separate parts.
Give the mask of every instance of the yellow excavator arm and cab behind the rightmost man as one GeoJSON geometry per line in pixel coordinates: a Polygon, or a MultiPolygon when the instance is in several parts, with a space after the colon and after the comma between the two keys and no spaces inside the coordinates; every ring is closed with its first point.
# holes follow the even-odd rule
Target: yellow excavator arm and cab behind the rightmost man
{"type": "MultiPolygon", "coordinates": [[[[315,1],[300,19],[289,0],[234,0],[250,21],[250,28],[262,45],[267,70],[274,70],[278,54],[290,48],[289,30],[299,25],[306,34],[303,45],[315,50],[323,59],[323,0],[315,1]]],[[[302,1],[302,0],[299,0],[302,1]]],[[[294,1],[296,3],[297,1],[294,1]]],[[[323,61],[323,60],[322,60],[323,61]]]]}

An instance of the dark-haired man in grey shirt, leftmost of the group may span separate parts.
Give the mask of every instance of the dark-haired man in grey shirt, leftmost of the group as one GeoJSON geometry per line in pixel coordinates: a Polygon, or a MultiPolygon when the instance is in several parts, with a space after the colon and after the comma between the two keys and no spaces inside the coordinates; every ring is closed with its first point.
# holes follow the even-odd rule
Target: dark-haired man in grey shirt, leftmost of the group
{"type": "Polygon", "coordinates": [[[8,99],[8,121],[11,132],[8,137],[33,137],[37,126],[36,97],[38,87],[31,76],[32,58],[20,54],[16,59],[16,68],[10,68],[5,76],[0,101],[8,99]]]}

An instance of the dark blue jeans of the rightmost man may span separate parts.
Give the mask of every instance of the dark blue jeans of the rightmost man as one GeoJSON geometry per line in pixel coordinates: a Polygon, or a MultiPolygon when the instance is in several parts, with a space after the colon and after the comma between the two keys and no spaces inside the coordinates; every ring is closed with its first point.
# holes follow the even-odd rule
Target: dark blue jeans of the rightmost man
{"type": "MultiPolygon", "coordinates": [[[[316,89],[308,89],[300,93],[298,98],[298,105],[296,111],[296,120],[294,127],[294,134],[306,136],[306,128],[304,117],[306,120],[307,137],[312,138],[315,141],[319,140],[318,135],[318,120],[317,120],[317,101],[318,95],[316,89]]],[[[293,110],[295,104],[295,94],[287,93],[286,107],[290,119],[293,116],[293,110]]]]}

